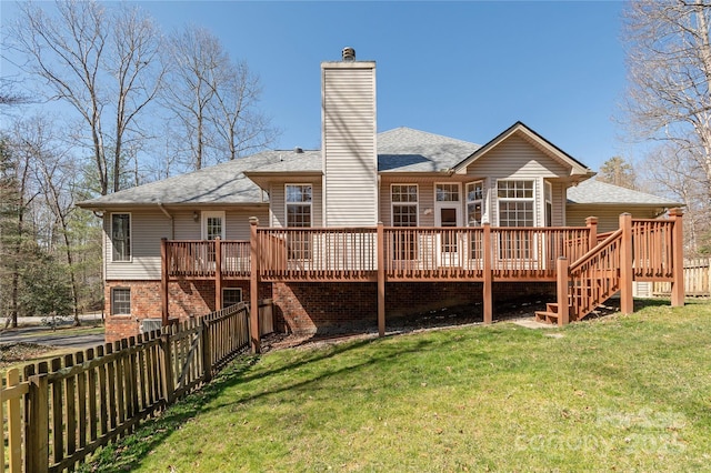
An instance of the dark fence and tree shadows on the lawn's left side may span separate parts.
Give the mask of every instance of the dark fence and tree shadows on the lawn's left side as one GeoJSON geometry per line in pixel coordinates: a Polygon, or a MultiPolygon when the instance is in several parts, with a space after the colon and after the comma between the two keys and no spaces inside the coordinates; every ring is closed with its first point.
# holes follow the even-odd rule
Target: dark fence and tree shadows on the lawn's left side
{"type": "MultiPolygon", "coordinates": [[[[233,399],[226,403],[217,405],[208,405],[219,399],[226,390],[237,385],[243,384],[259,379],[273,376],[279,373],[290,372],[297,370],[300,366],[309,365],[311,363],[321,362],[333,356],[340,355],[344,352],[359,349],[361,346],[378,343],[380,340],[359,340],[350,343],[342,343],[331,345],[329,350],[312,350],[309,352],[300,352],[300,359],[294,363],[288,363],[279,366],[274,370],[260,371],[259,373],[250,374],[254,364],[258,363],[259,356],[243,355],[232,363],[228,364],[220,373],[218,373],[213,380],[204,385],[200,391],[187,395],[168,410],[166,410],[158,417],[149,419],[143,422],[137,431],[120,440],[116,444],[104,446],[98,451],[94,456],[87,463],[80,466],[79,472],[126,472],[132,471],[140,466],[142,460],[150,454],[150,452],[166,441],[172,432],[179,430],[184,423],[196,417],[198,414],[208,413],[217,409],[222,409],[224,405],[244,403],[248,401],[257,400],[266,395],[272,395],[284,391],[297,390],[309,384],[341,375],[351,371],[356,371],[375,363],[382,363],[388,360],[395,359],[407,353],[417,353],[432,344],[431,341],[418,341],[414,344],[408,344],[404,350],[399,345],[392,345],[392,349],[381,356],[371,356],[363,359],[362,361],[348,366],[338,368],[332,371],[320,370],[314,373],[313,378],[297,381],[292,383],[284,383],[277,389],[266,390],[261,392],[254,392],[253,394],[244,397],[233,399]]],[[[382,351],[381,351],[382,352],[382,351]]]]}

